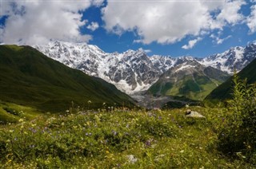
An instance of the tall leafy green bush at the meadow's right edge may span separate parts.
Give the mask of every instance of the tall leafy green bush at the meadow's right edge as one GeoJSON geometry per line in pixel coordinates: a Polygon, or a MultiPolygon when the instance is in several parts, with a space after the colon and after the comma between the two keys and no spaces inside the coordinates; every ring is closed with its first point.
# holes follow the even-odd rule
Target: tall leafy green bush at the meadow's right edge
{"type": "Polygon", "coordinates": [[[218,135],[218,147],[228,155],[253,159],[256,148],[256,85],[234,75],[234,98],[229,102],[227,123],[218,135]]]}

